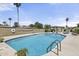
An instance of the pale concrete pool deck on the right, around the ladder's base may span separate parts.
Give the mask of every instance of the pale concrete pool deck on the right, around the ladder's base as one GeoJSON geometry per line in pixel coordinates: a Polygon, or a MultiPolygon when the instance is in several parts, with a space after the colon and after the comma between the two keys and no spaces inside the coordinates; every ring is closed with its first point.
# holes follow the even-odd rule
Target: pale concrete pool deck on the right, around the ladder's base
{"type": "MultiPolygon", "coordinates": [[[[53,52],[45,54],[45,56],[57,56],[53,52]]],[[[79,35],[74,36],[68,34],[67,37],[61,42],[61,51],[59,56],[79,56],[79,35]]]]}

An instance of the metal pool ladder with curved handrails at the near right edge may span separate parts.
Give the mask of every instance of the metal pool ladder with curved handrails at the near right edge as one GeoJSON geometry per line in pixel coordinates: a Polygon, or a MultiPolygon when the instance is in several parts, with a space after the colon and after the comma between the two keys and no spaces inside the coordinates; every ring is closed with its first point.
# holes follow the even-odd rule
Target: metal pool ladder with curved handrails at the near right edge
{"type": "Polygon", "coordinates": [[[61,51],[61,41],[59,40],[55,40],[54,42],[52,42],[48,47],[47,47],[47,52],[52,51],[54,52],[56,55],[59,55],[59,51],[61,51]],[[52,51],[52,46],[56,44],[56,52],[52,51]]]}

